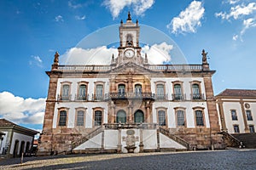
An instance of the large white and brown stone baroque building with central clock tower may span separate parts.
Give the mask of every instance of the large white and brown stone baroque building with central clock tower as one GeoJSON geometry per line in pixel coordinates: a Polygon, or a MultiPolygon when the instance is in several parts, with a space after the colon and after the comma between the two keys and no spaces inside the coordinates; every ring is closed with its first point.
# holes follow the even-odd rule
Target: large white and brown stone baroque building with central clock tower
{"type": "Polygon", "coordinates": [[[128,14],[111,65],[59,65],[55,54],[38,154],[224,148],[207,53],[150,65],[139,35],[128,14]]]}

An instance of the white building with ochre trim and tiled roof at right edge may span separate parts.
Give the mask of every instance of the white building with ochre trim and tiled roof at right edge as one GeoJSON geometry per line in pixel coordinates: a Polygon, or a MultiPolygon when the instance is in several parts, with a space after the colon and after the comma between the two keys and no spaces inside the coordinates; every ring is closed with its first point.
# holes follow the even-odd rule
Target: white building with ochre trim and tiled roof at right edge
{"type": "Polygon", "coordinates": [[[255,133],[256,90],[225,89],[216,102],[222,131],[255,133]]]}

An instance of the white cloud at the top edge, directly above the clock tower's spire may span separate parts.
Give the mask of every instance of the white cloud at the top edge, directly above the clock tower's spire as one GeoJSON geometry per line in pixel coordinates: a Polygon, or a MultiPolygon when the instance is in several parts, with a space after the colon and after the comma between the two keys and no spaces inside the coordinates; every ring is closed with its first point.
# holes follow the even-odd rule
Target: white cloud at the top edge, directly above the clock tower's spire
{"type": "Polygon", "coordinates": [[[103,5],[109,8],[113,19],[119,16],[119,13],[125,7],[133,8],[137,15],[143,14],[148,8],[151,8],[154,0],[105,0],[103,5]]]}

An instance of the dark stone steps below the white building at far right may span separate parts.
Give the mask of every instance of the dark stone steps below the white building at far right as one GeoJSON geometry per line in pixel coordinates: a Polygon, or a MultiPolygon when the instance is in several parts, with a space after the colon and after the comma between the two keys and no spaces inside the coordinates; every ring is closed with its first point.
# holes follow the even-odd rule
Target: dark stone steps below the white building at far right
{"type": "Polygon", "coordinates": [[[256,148],[256,133],[233,133],[232,135],[241,141],[245,148],[256,148]]]}

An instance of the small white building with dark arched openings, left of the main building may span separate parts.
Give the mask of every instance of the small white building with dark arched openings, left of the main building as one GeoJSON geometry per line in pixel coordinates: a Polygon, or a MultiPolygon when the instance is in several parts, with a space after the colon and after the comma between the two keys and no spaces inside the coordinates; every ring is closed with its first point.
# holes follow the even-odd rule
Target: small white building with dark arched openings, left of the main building
{"type": "Polygon", "coordinates": [[[0,119],[0,131],[0,155],[4,157],[18,157],[22,153],[29,154],[34,136],[38,133],[6,119],[0,119]]]}

